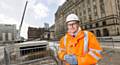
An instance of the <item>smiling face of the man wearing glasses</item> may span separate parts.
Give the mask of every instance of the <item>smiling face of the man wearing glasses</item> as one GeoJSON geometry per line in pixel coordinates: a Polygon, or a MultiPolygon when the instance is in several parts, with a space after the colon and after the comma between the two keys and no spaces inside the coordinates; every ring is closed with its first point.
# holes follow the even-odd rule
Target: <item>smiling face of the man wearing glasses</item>
{"type": "Polygon", "coordinates": [[[79,24],[76,21],[70,21],[67,23],[67,28],[69,33],[75,33],[79,28],[79,24]]]}

